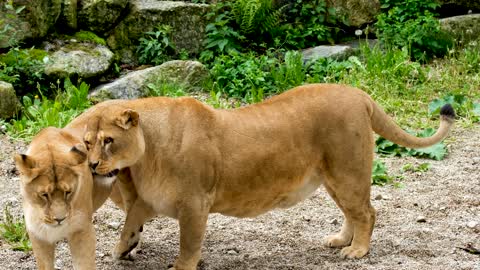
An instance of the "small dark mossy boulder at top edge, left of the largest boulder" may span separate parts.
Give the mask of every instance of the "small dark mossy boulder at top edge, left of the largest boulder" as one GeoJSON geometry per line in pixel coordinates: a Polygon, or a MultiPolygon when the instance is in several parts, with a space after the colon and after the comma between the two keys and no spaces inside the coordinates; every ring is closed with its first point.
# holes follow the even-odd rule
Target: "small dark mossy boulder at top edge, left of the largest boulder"
{"type": "Polygon", "coordinates": [[[128,2],[128,0],[81,0],[79,23],[93,32],[104,34],[118,23],[128,2]]]}

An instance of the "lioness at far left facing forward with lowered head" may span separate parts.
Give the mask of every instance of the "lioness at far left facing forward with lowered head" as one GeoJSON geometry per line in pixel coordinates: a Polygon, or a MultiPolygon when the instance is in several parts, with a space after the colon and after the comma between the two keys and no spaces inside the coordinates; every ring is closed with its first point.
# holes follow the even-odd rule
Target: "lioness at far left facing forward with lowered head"
{"type": "MultiPolygon", "coordinates": [[[[83,135],[85,125],[74,128],[82,126],[81,120],[73,121],[63,130],[42,130],[25,155],[15,156],[21,173],[27,231],[40,270],[54,269],[55,244],[63,239],[67,239],[70,246],[74,269],[95,269],[92,214],[109,195],[120,208],[125,206],[116,185],[110,194],[111,183],[102,183],[103,177],[92,178],[87,149],[79,135],[83,135]],[[66,191],[71,193],[67,195],[66,191]]],[[[126,171],[119,174],[120,179],[128,179],[128,169],[126,171]]],[[[122,182],[131,183],[130,180],[122,182]]],[[[131,188],[127,186],[123,190],[131,188]]],[[[130,191],[126,198],[135,195],[130,191]]]]}

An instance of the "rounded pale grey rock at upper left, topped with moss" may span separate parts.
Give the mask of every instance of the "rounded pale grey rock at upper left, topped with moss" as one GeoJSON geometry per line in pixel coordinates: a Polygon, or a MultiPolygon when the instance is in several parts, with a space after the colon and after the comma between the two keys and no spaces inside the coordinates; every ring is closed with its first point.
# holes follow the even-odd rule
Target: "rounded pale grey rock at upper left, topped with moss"
{"type": "Polygon", "coordinates": [[[51,54],[45,65],[45,74],[58,78],[78,75],[97,77],[105,73],[113,61],[113,53],[98,44],[68,44],[51,54]]]}

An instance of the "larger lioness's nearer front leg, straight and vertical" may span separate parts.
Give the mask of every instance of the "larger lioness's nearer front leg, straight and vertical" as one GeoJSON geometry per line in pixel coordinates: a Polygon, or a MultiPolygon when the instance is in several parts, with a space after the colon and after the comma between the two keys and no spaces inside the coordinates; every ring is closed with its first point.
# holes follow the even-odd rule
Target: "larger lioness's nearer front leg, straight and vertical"
{"type": "Polygon", "coordinates": [[[195,270],[207,227],[208,209],[205,203],[182,205],[178,213],[180,225],[180,254],[170,270],[195,270]],[[203,206],[203,207],[202,207],[203,206]]]}

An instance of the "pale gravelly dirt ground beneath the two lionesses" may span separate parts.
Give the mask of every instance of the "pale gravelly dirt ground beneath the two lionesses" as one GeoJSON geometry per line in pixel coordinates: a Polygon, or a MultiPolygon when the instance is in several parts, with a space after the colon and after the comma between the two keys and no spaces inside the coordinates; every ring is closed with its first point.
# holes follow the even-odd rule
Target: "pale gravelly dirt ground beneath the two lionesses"
{"type": "MultiPolygon", "coordinates": [[[[480,256],[459,249],[480,248],[480,126],[457,126],[445,160],[383,158],[403,187],[373,187],[378,211],[371,250],[360,260],[342,260],[339,249],[322,245],[340,229],[340,210],[323,189],[287,210],[253,219],[211,215],[199,269],[474,269],[480,256]],[[429,162],[423,173],[401,172],[405,164],[429,162]],[[426,222],[418,222],[423,216],[426,222]]],[[[0,135],[0,207],[10,204],[21,217],[19,179],[12,154],[25,149],[0,135]]],[[[3,218],[3,217],[2,217],[3,218]]],[[[0,218],[0,219],[2,219],[0,218]]],[[[134,261],[117,262],[111,249],[120,234],[123,213],[111,202],[95,215],[98,269],[167,269],[178,253],[175,220],[158,217],[144,230],[134,261]]],[[[56,253],[58,269],[72,269],[65,243],[56,253]]],[[[0,269],[35,269],[31,253],[12,251],[0,239],[0,269]]]]}

